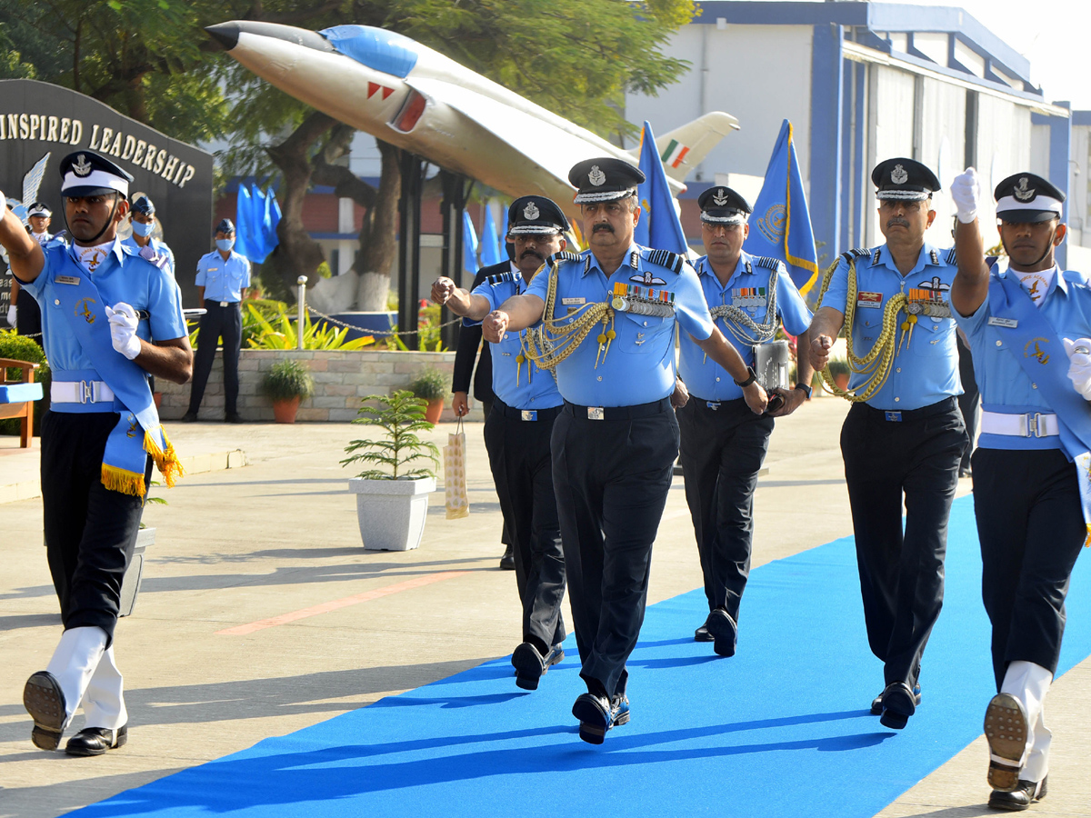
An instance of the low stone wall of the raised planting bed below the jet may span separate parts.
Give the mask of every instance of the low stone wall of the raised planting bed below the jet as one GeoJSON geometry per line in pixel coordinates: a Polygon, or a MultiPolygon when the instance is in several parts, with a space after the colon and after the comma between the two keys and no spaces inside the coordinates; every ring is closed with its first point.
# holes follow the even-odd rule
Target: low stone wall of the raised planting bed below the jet
{"type": "MultiPolygon", "coordinates": [[[[303,361],[314,378],[314,395],[300,404],[297,422],[353,420],[362,396],[387,395],[397,388],[408,388],[425,366],[444,372],[449,384],[455,363],[454,352],[244,349],[239,353],[239,414],[245,420],[273,420],[273,401],[262,394],[261,385],[269,366],[281,358],[303,361]]],[[[159,414],[164,420],[178,420],[185,413],[190,400],[189,384],[178,386],[156,378],[155,388],[163,393],[159,414]]],[[[202,420],[224,420],[224,363],[220,352],[216,353],[199,417],[202,420]]],[[[449,394],[445,398],[442,420],[455,420],[449,394]]],[[[481,407],[473,405],[467,420],[482,420],[481,407]]]]}

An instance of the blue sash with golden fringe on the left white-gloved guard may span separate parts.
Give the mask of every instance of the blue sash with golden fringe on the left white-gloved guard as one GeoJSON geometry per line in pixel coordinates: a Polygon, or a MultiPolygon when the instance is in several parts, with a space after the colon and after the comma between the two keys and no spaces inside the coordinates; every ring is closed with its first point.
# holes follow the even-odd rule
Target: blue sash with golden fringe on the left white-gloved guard
{"type": "MultiPolygon", "coordinates": [[[[64,248],[53,248],[52,263],[69,260],[64,248]]],[[[147,373],[113,349],[106,304],[91,276],[76,265],[57,264],[55,268],[75,268],[79,276],[55,277],[53,291],[69,327],[95,365],[95,373],[113,392],[113,411],[118,424],[106,441],[103,455],[103,485],[111,491],[144,496],[146,455],[152,455],[167,485],[182,476],[175,447],[159,424],[147,373]]],[[[64,373],[55,377],[64,380],[64,373]]],[[[60,405],[55,407],[60,409],[60,405]]]]}

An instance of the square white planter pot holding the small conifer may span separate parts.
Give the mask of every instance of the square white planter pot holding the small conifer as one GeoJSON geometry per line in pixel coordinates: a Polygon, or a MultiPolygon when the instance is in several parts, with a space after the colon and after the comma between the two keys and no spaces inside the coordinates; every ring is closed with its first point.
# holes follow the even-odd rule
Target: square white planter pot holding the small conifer
{"type": "Polygon", "coordinates": [[[411,551],[420,545],[428,517],[428,494],[435,478],[348,481],[363,546],[371,551],[411,551]]]}

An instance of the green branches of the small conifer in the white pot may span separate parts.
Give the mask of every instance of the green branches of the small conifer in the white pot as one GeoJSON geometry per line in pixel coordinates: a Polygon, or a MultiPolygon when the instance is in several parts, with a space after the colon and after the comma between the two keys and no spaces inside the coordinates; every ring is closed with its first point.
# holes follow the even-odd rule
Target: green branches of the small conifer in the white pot
{"type": "Polygon", "coordinates": [[[424,420],[424,400],[413,397],[407,389],[399,389],[393,395],[369,395],[362,402],[360,417],[352,422],[379,426],[386,434],[376,441],[350,441],[345,447],[350,457],[341,460],[341,466],[359,464],[380,467],[357,474],[364,480],[434,478],[440,466],[440,450],[434,443],[422,441],[417,434],[433,429],[424,420]],[[431,461],[432,468],[421,468],[428,461],[431,461]]]}

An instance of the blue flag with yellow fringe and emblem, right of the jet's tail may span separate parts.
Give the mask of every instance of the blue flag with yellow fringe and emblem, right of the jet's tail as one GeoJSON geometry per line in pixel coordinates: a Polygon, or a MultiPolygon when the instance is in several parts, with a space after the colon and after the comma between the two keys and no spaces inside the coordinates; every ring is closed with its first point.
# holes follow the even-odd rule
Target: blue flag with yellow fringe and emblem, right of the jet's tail
{"type": "Polygon", "coordinates": [[[792,142],[792,123],[787,119],[772,148],[750,226],[746,252],[782,261],[800,292],[806,294],[818,278],[818,254],[792,142]]]}

